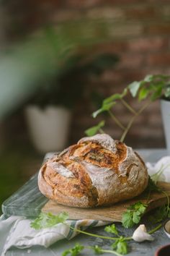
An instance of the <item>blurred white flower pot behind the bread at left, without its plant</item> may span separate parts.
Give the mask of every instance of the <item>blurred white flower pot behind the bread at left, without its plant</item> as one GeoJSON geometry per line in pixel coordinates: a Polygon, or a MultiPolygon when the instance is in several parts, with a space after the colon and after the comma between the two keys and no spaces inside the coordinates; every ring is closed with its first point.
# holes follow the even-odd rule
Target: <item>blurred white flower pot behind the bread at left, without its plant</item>
{"type": "Polygon", "coordinates": [[[63,107],[27,106],[25,109],[30,137],[40,153],[60,151],[66,147],[71,112],[63,107]]]}

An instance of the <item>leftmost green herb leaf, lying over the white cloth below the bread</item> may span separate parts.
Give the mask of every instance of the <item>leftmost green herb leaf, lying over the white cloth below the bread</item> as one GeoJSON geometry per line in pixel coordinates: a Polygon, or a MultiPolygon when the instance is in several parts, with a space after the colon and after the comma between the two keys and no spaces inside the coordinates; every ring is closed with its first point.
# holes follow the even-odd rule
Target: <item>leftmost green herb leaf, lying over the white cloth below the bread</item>
{"type": "Polygon", "coordinates": [[[40,213],[35,221],[30,223],[33,229],[46,229],[55,226],[58,223],[65,223],[68,219],[68,213],[59,213],[53,215],[52,213],[40,213]]]}

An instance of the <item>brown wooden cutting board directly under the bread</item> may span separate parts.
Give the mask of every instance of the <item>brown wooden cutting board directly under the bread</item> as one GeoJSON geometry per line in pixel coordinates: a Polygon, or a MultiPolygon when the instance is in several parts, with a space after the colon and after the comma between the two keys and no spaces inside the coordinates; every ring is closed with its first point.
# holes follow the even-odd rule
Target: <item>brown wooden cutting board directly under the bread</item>
{"type": "MultiPolygon", "coordinates": [[[[158,187],[163,189],[170,198],[170,183],[158,182],[158,187]]],[[[164,193],[153,192],[151,193],[150,199],[147,200],[147,195],[140,195],[132,200],[125,202],[119,202],[109,207],[98,207],[98,208],[74,208],[69,206],[60,205],[57,202],[49,200],[44,207],[42,212],[58,214],[61,212],[67,212],[69,219],[81,220],[81,219],[92,219],[97,221],[119,221],[121,222],[122,213],[135,202],[148,202],[148,210],[157,208],[158,206],[164,205],[167,202],[167,197],[164,193]]]]}

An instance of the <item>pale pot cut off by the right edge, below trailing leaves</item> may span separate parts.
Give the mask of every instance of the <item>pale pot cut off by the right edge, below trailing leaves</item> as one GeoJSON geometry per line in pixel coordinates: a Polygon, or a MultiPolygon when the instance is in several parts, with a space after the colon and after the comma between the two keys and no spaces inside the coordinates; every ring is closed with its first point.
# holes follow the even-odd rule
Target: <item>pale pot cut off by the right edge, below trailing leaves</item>
{"type": "Polygon", "coordinates": [[[161,114],[164,124],[167,153],[170,155],[170,101],[161,100],[161,114]]]}

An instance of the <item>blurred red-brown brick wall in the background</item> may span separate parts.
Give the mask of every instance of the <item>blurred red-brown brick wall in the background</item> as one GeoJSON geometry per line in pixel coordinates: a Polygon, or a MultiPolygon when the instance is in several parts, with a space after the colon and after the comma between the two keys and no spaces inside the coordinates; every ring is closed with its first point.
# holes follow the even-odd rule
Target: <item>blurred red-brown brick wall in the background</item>
{"type": "MultiPolygon", "coordinates": [[[[42,1],[37,1],[38,4],[42,1]]],[[[89,49],[89,54],[99,52],[119,56],[120,61],[112,69],[107,69],[100,77],[91,77],[89,88],[107,97],[121,92],[128,83],[142,79],[146,74],[169,74],[170,72],[170,2],[167,0],[65,0],[43,1],[45,19],[58,26],[60,22],[87,20],[107,20],[107,43],[98,43],[89,49]],[[60,3],[59,3],[60,2],[60,3]]],[[[37,20],[43,20],[41,19],[37,20]]],[[[75,27],[76,30],[76,27],[75,27]]],[[[90,32],[90,29],[88,30],[90,32]]],[[[138,108],[138,103],[130,99],[138,108]]],[[[95,108],[86,99],[77,104],[73,113],[70,142],[84,136],[84,130],[96,124],[90,114],[95,108]]],[[[130,118],[129,113],[117,106],[115,114],[123,122],[130,118]]],[[[107,116],[105,131],[112,137],[120,137],[120,129],[107,116]]],[[[138,117],[126,139],[135,148],[164,147],[164,132],[159,102],[153,103],[138,117]]]]}

